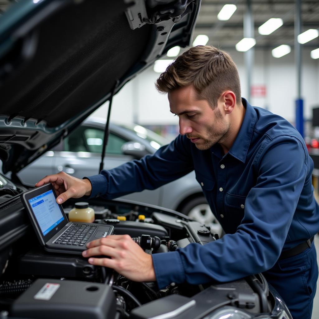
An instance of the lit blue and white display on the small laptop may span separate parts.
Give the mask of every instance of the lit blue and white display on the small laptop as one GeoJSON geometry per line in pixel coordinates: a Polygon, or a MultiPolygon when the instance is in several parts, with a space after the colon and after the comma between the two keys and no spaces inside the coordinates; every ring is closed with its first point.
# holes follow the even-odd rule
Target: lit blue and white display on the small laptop
{"type": "Polygon", "coordinates": [[[64,220],[52,190],[29,199],[29,203],[43,236],[64,220]]]}

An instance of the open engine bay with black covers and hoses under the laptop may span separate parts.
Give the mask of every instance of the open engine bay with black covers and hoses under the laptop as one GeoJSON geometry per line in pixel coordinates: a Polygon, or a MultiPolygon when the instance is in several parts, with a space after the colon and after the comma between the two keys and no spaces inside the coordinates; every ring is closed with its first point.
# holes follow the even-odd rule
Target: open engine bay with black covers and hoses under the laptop
{"type": "MultiPolygon", "coordinates": [[[[66,214],[77,201],[66,202],[66,214]]],[[[114,234],[130,235],[148,254],[218,240],[208,226],[176,211],[123,200],[88,202],[95,210],[94,223],[114,226],[114,234]]],[[[0,309],[9,317],[199,318],[233,309],[241,315],[238,318],[253,318],[274,307],[262,275],[230,283],[171,283],[159,290],[156,282],[131,281],[82,256],[46,252],[19,195],[6,199],[0,211],[0,309]]]]}

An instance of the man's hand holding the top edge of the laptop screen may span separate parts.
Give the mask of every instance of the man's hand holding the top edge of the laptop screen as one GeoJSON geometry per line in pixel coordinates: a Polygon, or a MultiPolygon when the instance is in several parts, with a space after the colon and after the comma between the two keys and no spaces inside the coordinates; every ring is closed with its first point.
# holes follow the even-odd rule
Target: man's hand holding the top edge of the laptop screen
{"type": "Polygon", "coordinates": [[[91,182],[88,179],[79,179],[70,176],[64,172],[54,175],[47,175],[35,184],[35,187],[42,186],[46,183],[51,183],[56,190],[56,202],[64,203],[67,199],[80,198],[84,195],[90,195],[92,191],[91,182]]]}

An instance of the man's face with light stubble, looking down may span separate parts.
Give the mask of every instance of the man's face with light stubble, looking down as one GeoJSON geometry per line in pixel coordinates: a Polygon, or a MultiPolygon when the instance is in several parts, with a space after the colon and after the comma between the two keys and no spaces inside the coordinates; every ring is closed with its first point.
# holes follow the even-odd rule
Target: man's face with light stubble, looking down
{"type": "Polygon", "coordinates": [[[186,135],[199,150],[208,150],[227,137],[230,122],[207,100],[198,100],[192,85],[168,93],[172,113],[179,117],[180,134],[186,135]]]}

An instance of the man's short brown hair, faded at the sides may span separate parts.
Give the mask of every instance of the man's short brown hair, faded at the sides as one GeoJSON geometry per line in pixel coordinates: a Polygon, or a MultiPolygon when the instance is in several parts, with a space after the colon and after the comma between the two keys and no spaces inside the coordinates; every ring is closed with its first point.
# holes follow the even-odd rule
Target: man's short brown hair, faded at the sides
{"type": "Polygon", "coordinates": [[[212,46],[189,48],[159,76],[155,86],[161,93],[193,84],[199,99],[207,100],[212,108],[220,95],[231,90],[241,104],[239,74],[230,55],[212,46]]]}

